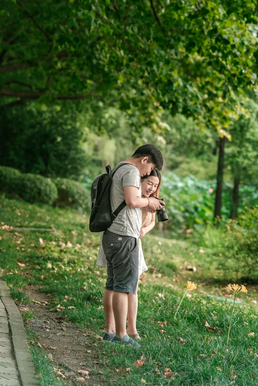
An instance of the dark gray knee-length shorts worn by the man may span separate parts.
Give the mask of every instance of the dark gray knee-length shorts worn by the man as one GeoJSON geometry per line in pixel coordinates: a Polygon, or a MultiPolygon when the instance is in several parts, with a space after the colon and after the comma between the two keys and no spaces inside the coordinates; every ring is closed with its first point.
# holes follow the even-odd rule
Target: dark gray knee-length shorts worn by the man
{"type": "Polygon", "coordinates": [[[102,246],[108,267],[105,288],[134,295],[138,284],[138,239],[106,230],[102,246]]]}

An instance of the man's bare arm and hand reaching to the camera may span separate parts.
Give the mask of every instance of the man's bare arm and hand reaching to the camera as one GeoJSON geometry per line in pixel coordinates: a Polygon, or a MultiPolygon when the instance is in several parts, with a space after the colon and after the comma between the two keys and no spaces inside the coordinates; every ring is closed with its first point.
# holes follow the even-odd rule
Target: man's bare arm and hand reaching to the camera
{"type": "Polygon", "coordinates": [[[144,208],[149,205],[150,209],[158,210],[162,208],[161,203],[164,204],[163,201],[157,200],[154,197],[143,198],[143,197],[137,196],[138,188],[136,186],[125,186],[124,192],[125,192],[125,202],[126,202],[126,205],[128,205],[128,207],[144,208]]]}

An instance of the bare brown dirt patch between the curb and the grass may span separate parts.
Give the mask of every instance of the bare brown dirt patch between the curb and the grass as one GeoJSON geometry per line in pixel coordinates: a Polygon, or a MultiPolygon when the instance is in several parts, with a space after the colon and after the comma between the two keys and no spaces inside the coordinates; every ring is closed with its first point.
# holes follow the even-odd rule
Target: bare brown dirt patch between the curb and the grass
{"type": "Polygon", "coordinates": [[[39,288],[30,286],[22,292],[34,301],[29,304],[17,304],[21,313],[34,311],[32,319],[25,320],[24,325],[31,328],[38,336],[38,343],[46,355],[52,358],[53,367],[58,367],[65,376],[67,384],[77,385],[75,378],[82,377],[83,373],[78,372],[82,370],[87,372],[83,375],[85,379],[83,384],[109,386],[109,383],[103,379],[98,361],[100,350],[92,345],[87,331],[68,322],[64,313],[51,312],[44,304],[44,302],[50,302],[50,297],[40,293],[39,288]],[[96,370],[94,374],[94,368],[97,368],[97,375],[96,370]]]}

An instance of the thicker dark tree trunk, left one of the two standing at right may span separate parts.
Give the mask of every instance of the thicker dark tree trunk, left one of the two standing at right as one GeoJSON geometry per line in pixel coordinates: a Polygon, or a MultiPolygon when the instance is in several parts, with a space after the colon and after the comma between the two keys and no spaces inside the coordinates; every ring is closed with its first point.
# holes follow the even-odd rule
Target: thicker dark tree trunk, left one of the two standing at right
{"type": "Polygon", "coordinates": [[[217,188],[216,188],[215,209],[214,209],[214,223],[216,227],[219,226],[219,221],[217,219],[221,217],[225,141],[226,141],[225,137],[220,138],[220,141],[219,141],[219,161],[218,161],[217,188]]]}

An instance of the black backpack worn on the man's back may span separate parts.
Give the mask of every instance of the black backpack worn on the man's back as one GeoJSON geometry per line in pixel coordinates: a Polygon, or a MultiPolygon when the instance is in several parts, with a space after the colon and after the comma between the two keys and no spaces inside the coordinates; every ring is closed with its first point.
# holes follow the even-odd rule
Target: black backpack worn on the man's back
{"type": "Polygon", "coordinates": [[[126,165],[123,163],[113,171],[111,167],[106,166],[106,174],[101,174],[94,179],[91,186],[91,216],[89,222],[89,229],[91,232],[103,232],[107,230],[116,218],[118,213],[126,206],[125,200],[119,205],[118,208],[112,213],[110,203],[110,186],[114,173],[120,166],[126,165]]]}

